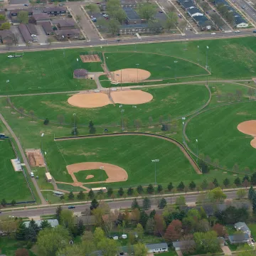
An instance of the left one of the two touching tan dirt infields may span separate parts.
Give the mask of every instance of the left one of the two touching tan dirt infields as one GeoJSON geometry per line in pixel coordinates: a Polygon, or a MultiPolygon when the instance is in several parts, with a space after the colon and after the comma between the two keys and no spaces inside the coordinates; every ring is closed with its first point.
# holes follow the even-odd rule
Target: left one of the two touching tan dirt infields
{"type": "Polygon", "coordinates": [[[112,104],[105,93],[76,94],[68,98],[68,103],[75,107],[103,107],[112,104]]]}

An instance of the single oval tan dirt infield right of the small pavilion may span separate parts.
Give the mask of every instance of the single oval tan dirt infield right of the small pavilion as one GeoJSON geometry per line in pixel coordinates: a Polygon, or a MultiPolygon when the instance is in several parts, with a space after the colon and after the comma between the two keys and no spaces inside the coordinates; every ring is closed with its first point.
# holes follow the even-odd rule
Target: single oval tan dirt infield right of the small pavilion
{"type": "Polygon", "coordinates": [[[139,68],[124,68],[110,73],[116,82],[140,82],[150,77],[151,73],[139,68]]]}

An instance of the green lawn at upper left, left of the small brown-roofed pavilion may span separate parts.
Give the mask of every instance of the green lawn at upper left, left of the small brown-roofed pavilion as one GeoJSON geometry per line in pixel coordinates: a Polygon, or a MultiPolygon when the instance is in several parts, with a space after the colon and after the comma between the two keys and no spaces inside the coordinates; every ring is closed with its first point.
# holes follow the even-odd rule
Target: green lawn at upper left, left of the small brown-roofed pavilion
{"type": "Polygon", "coordinates": [[[24,53],[22,58],[7,58],[6,53],[0,54],[1,95],[95,88],[93,80],[73,78],[73,70],[77,68],[102,71],[100,63],[77,61],[80,52],[80,49],[65,50],[65,57],[63,50],[24,53]]]}

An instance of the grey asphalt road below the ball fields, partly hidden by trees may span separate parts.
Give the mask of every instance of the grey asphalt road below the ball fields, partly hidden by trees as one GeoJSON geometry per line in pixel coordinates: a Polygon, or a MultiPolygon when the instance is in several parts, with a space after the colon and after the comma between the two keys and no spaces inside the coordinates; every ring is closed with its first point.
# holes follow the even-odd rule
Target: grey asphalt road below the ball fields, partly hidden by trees
{"type": "MultiPolygon", "coordinates": [[[[227,199],[233,199],[236,198],[236,191],[228,191],[225,192],[227,195],[227,199]]],[[[174,203],[176,201],[176,198],[178,196],[171,196],[166,198],[166,201],[168,203],[174,203]]],[[[196,198],[198,197],[198,194],[193,194],[193,195],[187,195],[185,196],[186,198],[186,203],[195,203],[196,198]]],[[[142,199],[137,200],[140,204],[142,204],[142,199]]],[[[127,201],[112,201],[109,202],[108,205],[112,209],[119,209],[119,208],[129,208],[132,205],[132,200],[127,200],[127,201]]],[[[152,209],[157,208],[157,199],[151,198],[151,205],[152,209]]],[[[67,209],[67,205],[62,206],[63,209],[67,209]]],[[[85,210],[86,208],[90,208],[90,203],[85,203],[82,205],[75,205],[75,209],[72,209],[74,213],[76,212],[81,212],[82,210],[85,210]]],[[[27,210],[13,210],[9,212],[2,212],[1,215],[11,215],[11,216],[16,216],[16,217],[33,217],[33,216],[39,216],[39,215],[48,215],[48,214],[54,214],[56,210],[56,206],[49,206],[47,208],[38,208],[38,209],[27,209],[27,210]]]]}

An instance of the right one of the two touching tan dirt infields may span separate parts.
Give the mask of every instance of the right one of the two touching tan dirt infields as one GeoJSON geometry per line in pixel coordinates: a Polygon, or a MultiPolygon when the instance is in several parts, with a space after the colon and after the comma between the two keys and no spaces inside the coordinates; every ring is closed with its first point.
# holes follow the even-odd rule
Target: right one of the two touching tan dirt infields
{"type": "Polygon", "coordinates": [[[146,102],[150,102],[153,99],[153,95],[142,90],[111,92],[111,97],[114,103],[126,105],[144,104],[146,102]]]}

